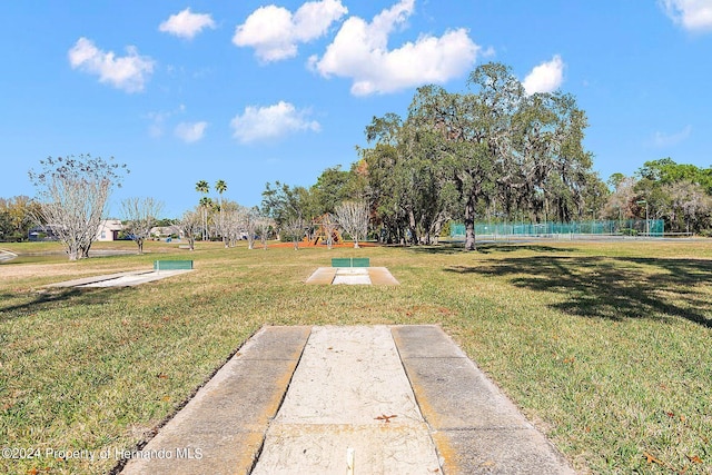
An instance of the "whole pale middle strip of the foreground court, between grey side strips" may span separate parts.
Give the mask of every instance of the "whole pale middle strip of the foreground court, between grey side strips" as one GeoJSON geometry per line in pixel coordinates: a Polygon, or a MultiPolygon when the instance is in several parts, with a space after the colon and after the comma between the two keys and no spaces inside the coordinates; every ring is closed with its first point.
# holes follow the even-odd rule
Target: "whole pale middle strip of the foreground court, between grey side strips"
{"type": "Polygon", "coordinates": [[[315,327],[253,474],[441,469],[388,327],[315,327]]]}

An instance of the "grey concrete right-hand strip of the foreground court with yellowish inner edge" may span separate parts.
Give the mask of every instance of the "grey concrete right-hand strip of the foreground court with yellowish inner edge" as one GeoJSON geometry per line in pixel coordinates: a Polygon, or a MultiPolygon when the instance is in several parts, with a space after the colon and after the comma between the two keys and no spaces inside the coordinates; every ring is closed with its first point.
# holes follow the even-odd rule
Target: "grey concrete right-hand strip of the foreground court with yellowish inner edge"
{"type": "Polygon", "coordinates": [[[445,473],[574,473],[439,327],[392,331],[421,410],[435,431],[445,473]]]}

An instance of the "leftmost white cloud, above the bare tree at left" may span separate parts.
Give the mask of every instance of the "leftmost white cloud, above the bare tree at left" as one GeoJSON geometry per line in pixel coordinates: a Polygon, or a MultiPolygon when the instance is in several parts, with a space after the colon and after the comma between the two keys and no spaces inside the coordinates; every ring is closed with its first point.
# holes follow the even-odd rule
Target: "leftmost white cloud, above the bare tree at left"
{"type": "Polygon", "coordinates": [[[108,82],[127,92],[139,92],[154,72],[154,60],[139,56],[135,47],[127,47],[127,56],[117,57],[113,51],[98,49],[87,38],[79,38],[69,50],[69,63],[90,75],[98,75],[99,81],[108,82]]]}

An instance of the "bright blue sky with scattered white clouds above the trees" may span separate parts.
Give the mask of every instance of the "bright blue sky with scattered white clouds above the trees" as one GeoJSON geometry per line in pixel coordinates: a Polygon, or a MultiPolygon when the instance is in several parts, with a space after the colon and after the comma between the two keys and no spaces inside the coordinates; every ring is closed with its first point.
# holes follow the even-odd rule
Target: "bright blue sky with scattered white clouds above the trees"
{"type": "Polygon", "coordinates": [[[0,197],[52,156],[115,157],[112,195],[178,217],[195,184],[258,205],[267,181],[348,168],[374,116],[477,65],[561,89],[603,179],[712,165],[712,0],[13,1],[0,16],[0,197]]]}

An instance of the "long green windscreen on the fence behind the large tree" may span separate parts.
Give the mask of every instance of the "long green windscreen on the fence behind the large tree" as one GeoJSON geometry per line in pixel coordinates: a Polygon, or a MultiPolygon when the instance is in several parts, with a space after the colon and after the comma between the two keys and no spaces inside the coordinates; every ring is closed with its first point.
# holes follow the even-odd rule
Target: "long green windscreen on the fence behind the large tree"
{"type": "MultiPolygon", "coordinates": [[[[477,222],[475,235],[548,236],[548,235],[607,235],[662,237],[662,219],[599,220],[577,222],[477,222]]],[[[463,239],[465,225],[451,225],[449,237],[463,239]]]]}

